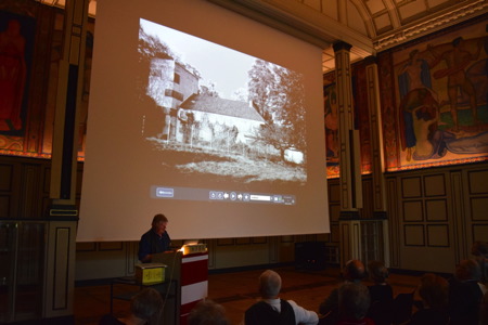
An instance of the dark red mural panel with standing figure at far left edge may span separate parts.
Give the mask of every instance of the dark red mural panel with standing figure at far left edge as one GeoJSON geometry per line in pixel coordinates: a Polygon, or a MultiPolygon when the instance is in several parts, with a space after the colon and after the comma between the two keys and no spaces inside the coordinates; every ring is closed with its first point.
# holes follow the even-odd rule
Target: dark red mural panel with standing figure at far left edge
{"type": "Polygon", "coordinates": [[[0,11],[0,134],[23,135],[35,20],[0,11]]]}

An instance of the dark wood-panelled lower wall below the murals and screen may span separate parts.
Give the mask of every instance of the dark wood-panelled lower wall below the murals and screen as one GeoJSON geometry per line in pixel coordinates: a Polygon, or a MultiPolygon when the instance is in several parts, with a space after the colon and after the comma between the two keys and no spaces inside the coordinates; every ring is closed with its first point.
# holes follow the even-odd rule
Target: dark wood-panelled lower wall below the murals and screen
{"type": "MultiPolygon", "coordinates": [[[[49,204],[49,171],[46,159],[0,156],[0,219],[42,220],[49,204]]],[[[78,168],[78,199],[81,177],[82,164],[78,168]]],[[[389,225],[381,230],[368,223],[373,216],[368,205],[372,182],[371,177],[363,177],[361,220],[368,226],[361,235],[388,232],[391,268],[451,273],[455,263],[470,257],[474,240],[488,238],[488,164],[388,173],[386,184],[389,225]]],[[[209,239],[209,268],[292,263],[295,243],[300,242],[325,242],[328,262],[338,264],[338,181],[329,180],[328,186],[331,234],[209,239]]],[[[133,274],[137,245],[77,243],[76,280],[133,274]]]]}

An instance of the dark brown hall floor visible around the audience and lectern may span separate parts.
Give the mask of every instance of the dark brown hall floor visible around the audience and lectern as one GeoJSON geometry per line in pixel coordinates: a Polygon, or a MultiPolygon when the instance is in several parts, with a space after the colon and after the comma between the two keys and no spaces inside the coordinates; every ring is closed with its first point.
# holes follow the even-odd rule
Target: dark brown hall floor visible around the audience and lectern
{"type": "MultiPolygon", "coordinates": [[[[221,303],[232,324],[243,321],[244,311],[258,298],[257,278],[264,270],[208,275],[208,298],[221,303]]],[[[281,298],[293,299],[299,306],[317,311],[320,302],[342,282],[338,269],[322,271],[296,270],[293,266],[274,269],[282,276],[281,298]]],[[[412,292],[420,276],[390,274],[394,295],[412,292]]],[[[369,283],[365,282],[365,285],[369,283]]],[[[75,324],[95,325],[110,313],[110,285],[77,286],[75,288],[75,324]]],[[[127,314],[129,303],[114,300],[114,314],[127,314]]]]}

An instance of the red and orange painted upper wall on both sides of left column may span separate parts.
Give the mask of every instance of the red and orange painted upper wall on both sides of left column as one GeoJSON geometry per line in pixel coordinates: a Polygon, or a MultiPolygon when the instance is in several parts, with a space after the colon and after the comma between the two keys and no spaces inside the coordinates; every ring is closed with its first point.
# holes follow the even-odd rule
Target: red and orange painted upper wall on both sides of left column
{"type": "MultiPolygon", "coordinates": [[[[60,60],[62,55],[64,11],[27,0],[4,0],[0,3],[0,35],[2,47],[10,21],[21,23],[25,43],[25,90],[22,109],[7,106],[5,92],[14,91],[13,81],[0,76],[0,155],[51,158],[54,112],[57,92],[60,60]],[[36,46],[34,46],[36,44],[36,46]],[[12,84],[10,84],[10,83],[12,84]],[[11,90],[9,90],[11,89],[11,90]],[[27,101],[28,99],[28,101],[27,101]],[[18,114],[20,112],[20,114],[18,114]]],[[[84,89],[80,106],[78,160],[85,158],[86,120],[90,89],[91,57],[93,51],[94,21],[89,20],[84,67],[84,89]]],[[[11,43],[11,42],[10,42],[11,43]]],[[[22,44],[23,41],[14,41],[22,44]]],[[[9,46],[12,48],[12,46],[9,46]]],[[[12,62],[1,55],[2,70],[13,69],[12,62]],[[10,66],[7,66],[10,65],[10,66]]]]}

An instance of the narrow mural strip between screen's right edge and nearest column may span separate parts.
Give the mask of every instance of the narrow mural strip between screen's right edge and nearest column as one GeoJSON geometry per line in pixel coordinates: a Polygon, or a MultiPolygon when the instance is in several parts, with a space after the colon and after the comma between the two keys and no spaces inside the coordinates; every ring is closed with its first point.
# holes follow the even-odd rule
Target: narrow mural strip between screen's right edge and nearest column
{"type": "MultiPolygon", "coordinates": [[[[329,74],[329,79],[334,80],[334,75],[329,74]]],[[[338,142],[338,112],[337,93],[335,83],[326,81],[324,76],[323,105],[324,105],[324,128],[325,128],[325,153],[328,178],[339,176],[339,142],[338,142]]]]}

